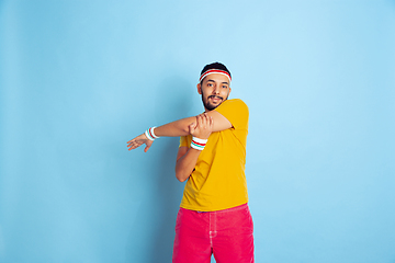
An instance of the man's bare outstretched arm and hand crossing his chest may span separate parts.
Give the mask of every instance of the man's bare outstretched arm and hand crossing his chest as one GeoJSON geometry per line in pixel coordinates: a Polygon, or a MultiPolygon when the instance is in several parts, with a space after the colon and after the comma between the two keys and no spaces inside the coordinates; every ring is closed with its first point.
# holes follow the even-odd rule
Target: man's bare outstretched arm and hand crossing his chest
{"type": "MultiPolygon", "coordinates": [[[[224,117],[221,113],[216,111],[211,111],[205,113],[208,117],[213,118],[214,126],[212,132],[219,132],[224,129],[232,128],[230,122],[224,117]]],[[[199,116],[199,115],[198,115],[199,116]]],[[[172,123],[165,124],[155,128],[155,135],[159,137],[179,137],[187,136],[190,134],[190,127],[196,126],[198,116],[181,118],[172,123]]],[[[146,152],[149,147],[153,145],[153,141],[149,140],[145,134],[137,136],[136,138],[127,141],[128,150],[136,149],[137,147],[146,145],[144,151],[146,152]]]]}

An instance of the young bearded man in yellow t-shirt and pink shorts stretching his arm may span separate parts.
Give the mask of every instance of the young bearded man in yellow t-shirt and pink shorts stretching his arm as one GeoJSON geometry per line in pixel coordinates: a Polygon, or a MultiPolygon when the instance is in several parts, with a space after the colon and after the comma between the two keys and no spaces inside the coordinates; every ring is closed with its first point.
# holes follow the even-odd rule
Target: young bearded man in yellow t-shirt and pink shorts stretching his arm
{"type": "Polygon", "coordinates": [[[219,62],[206,65],[198,92],[205,112],[129,140],[145,151],[162,136],[180,136],[176,178],[188,180],[176,222],[173,263],[253,262],[252,218],[245,175],[248,107],[227,100],[232,76],[219,62]]]}

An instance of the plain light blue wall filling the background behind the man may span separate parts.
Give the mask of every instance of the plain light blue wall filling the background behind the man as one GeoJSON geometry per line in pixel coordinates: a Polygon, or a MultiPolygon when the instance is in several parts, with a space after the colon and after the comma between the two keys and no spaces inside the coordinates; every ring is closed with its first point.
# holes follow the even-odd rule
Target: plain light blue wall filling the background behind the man
{"type": "Polygon", "coordinates": [[[0,1],[0,262],[170,262],[205,64],[250,108],[256,261],[395,262],[395,1],[0,1]]]}

